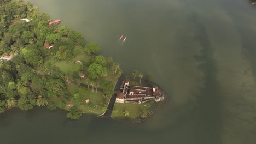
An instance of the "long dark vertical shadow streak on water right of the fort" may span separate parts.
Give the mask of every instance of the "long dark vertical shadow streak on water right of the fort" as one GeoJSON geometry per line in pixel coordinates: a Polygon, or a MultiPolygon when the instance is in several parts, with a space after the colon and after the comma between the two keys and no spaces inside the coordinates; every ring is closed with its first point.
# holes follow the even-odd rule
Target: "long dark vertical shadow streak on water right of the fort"
{"type": "Polygon", "coordinates": [[[196,14],[191,16],[190,22],[195,25],[194,41],[197,41],[201,47],[201,55],[194,56],[199,67],[205,74],[204,87],[201,94],[197,98],[197,105],[191,116],[195,118],[195,122],[199,122],[200,127],[196,127],[199,137],[199,143],[222,143],[223,133],[223,105],[222,97],[219,94],[219,87],[216,81],[216,65],[212,54],[214,47],[211,47],[210,40],[205,27],[200,22],[196,14]]]}

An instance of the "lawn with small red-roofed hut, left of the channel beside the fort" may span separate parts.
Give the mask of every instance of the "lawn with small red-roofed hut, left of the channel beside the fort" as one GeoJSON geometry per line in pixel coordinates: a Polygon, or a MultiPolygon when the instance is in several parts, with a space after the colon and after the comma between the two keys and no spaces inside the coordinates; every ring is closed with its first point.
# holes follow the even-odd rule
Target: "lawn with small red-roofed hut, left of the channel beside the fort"
{"type": "Polygon", "coordinates": [[[80,97],[79,98],[71,98],[69,100],[69,104],[73,104],[74,106],[77,106],[80,110],[82,110],[84,113],[96,113],[101,114],[102,113],[102,107],[106,107],[109,101],[109,97],[104,98],[102,92],[97,92],[94,89],[94,92],[92,92],[92,89],[88,89],[87,87],[79,87],[74,84],[70,84],[68,86],[68,91],[72,95],[79,92],[80,97]],[[90,102],[87,104],[85,103],[85,100],[89,99],[90,102]],[[83,105],[83,106],[81,106],[83,105]],[[90,111],[89,107],[93,107],[93,111],[90,111]]]}

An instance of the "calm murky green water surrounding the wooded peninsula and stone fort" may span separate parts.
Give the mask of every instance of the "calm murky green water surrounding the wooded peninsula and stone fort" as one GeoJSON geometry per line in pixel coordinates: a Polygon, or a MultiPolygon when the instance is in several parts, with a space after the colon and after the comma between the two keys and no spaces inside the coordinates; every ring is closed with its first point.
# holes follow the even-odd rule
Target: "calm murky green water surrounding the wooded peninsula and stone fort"
{"type": "Polygon", "coordinates": [[[256,143],[256,7],[249,1],[31,2],[95,41],[125,74],[150,74],[171,103],[136,126],[13,109],[0,115],[2,142],[256,143]]]}

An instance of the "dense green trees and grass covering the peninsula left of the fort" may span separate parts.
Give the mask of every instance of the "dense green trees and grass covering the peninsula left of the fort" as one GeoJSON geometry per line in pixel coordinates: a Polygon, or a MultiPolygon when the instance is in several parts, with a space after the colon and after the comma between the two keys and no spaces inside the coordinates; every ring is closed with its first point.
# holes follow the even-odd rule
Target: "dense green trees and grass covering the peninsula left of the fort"
{"type": "Polygon", "coordinates": [[[78,32],[58,23],[48,25],[50,16],[29,2],[2,0],[0,12],[0,57],[12,57],[0,61],[0,112],[37,105],[65,109],[68,118],[77,119],[82,113],[106,110],[122,73],[119,64],[96,56],[100,47],[86,44],[78,32]]]}

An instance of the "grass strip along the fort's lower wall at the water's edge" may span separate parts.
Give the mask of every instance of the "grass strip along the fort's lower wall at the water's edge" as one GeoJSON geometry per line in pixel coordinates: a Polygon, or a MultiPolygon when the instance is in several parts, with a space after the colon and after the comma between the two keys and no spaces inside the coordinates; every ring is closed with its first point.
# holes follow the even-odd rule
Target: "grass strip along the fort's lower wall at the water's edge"
{"type": "Polygon", "coordinates": [[[118,110],[117,113],[112,113],[112,118],[114,117],[124,117],[124,111],[129,111],[130,118],[137,118],[140,117],[143,113],[149,113],[151,111],[151,107],[156,102],[154,100],[148,101],[148,103],[144,104],[130,104],[124,103],[119,104],[115,103],[113,110],[118,110]]]}

